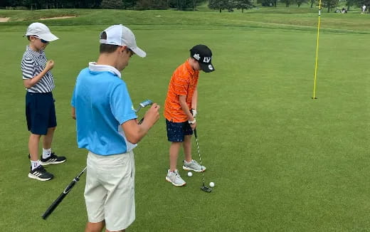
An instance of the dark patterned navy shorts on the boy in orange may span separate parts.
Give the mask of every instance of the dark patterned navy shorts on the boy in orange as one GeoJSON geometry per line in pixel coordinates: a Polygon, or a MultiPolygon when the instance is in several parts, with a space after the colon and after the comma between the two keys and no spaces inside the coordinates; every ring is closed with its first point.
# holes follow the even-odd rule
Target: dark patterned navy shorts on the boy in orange
{"type": "Polygon", "coordinates": [[[185,135],[193,135],[189,122],[170,122],[166,120],[169,142],[184,142],[185,135]]]}

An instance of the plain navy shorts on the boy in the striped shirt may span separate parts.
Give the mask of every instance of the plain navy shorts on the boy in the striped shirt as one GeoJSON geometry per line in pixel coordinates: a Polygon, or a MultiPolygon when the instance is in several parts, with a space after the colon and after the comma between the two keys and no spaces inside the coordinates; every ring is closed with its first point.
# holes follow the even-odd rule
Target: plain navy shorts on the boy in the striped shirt
{"type": "Polygon", "coordinates": [[[48,128],[56,127],[56,106],[52,93],[26,93],[28,130],[35,135],[46,135],[48,128]]]}

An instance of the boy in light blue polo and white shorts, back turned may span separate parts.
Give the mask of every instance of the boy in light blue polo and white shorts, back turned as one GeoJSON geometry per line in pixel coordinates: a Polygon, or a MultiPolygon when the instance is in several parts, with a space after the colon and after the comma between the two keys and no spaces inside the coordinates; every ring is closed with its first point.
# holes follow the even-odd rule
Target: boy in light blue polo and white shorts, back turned
{"type": "Polygon", "coordinates": [[[71,100],[78,147],[88,149],[85,232],[125,231],[135,218],[132,149],[159,119],[154,103],[137,122],[120,71],[132,55],[145,57],[129,28],[114,25],[100,33],[97,62],[78,75],[71,100]]]}

